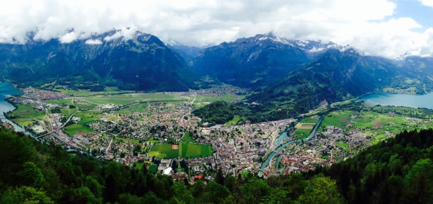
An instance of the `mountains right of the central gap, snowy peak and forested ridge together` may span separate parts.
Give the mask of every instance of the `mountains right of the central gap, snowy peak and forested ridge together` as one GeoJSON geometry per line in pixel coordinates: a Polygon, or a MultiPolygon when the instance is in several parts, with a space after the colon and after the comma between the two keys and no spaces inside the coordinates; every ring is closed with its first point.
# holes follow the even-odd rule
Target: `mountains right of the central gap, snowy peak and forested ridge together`
{"type": "MultiPolygon", "coordinates": [[[[374,91],[428,93],[433,90],[431,62],[433,58],[366,56],[348,45],[287,40],[270,33],[208,47],[191,69],[250,89],[246,100],[254,105],[227,109],[241,110],[235,114],[259,122],[374,91]]],[[[210,111],[197,113],[206,117],[210,114],[200,113],[210,111]]]]}

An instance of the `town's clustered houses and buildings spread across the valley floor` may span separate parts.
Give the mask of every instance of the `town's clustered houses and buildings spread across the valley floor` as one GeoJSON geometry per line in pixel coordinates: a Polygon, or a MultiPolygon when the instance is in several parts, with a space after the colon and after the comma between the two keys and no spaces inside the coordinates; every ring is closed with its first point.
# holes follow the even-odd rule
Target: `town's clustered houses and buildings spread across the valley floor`
{"type": "MultiPolygon", "coordinates": [[[[41,99],[67,97],[61,93],[33,88],[23,91],[25,97],[12,97],[11,100],[15,103],[34,103],[36,104],[34,108],[37,110],[58,107],[58,105],[46,104],[41,99]]],[[[230,86],[196,91],[196,94],[215,96],[227,93],[244,92],[230,86]]],[[[185,92],[185,94],[190,93],[185,92]]],[[[143,161],[155,163],[158,164],[158,172],[171,175],[174,180],[188,179],[191,182],[198,179],[212,180],[213,173],[220,168],[225,174],[234,175],[245,171],[258,172],[266,156],[271,154],[278,145],[295,139],[290,132],[284,140],[278,138],[291,125],[293,119],[243,125],[207,126],[206,123],[202,123],[202,126],[199,126],[201,118],[191,115],[190,102],[147,104],[147,107],[141,106],[143,111],[129,112],[122,110],[127,107],[113,104],[98,106],[96,109],[102,110],[104,115],[99,120],[88,124],[95,131],[76,135],[74,141],[79,141],[81,146],[90,149],[98,157],[129,166],[143,161]],[[147,156],[153,144],[178,143],[186,132],[189,132],[196,142],[212,145],[213,155],[188,159],[187,171],[173,169],[175,160],[161,159],[155,162],[155,158],[147,156]]],[[[356,115],[352,116],[352,118],[356,117],[356,115]]],[[[72,121],[78,122],[81,119],[73,117],[72,121]]],[[[63,115],[50,114],[50,129],[60,127],[63,124],[62,120],[64,120],[63,115]]],[[[413,121],[416,122],[415,119],[413,121]]],[[[40,125],[33,125],[31,128],[40,134],[47,129],[40,125]]],[[[393,136],[389,132],[385,134],[393,136]]],[[[62,134],[59,133],[59,136],[62,134]]],[[[315,137],[306,142],[287,145],[270,161],[263,173],[268,176],[275,173],[313,170],[317,165],[329,166],[354,155],[356,150],[370,145],[370,140],[371,137],[361,131],[348,132],[338,127],[328,126],[326,131],[316,133],[315,137]]]]}

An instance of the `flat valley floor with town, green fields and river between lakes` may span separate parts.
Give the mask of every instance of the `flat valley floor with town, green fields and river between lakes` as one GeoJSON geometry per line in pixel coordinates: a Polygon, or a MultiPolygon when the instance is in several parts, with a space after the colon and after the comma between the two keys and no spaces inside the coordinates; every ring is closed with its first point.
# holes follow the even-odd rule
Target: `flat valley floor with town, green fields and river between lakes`
{"type": "Polygon", "coordinates": [[[7,117],[41,140],[190,181],[210,179],[219,168],[226,174],[257,173],[267,158],[261,169],[265,176],[308,171],[351,157],[403,130],[433,127],[432,119],[426,119],[433,118],[429,111],[379,109],[354,101],[296,119],[256,124],[238,124],[235,116],[208,127],[191,115],[191,110],[213,101],[242,100],[233,87],[176,93],[23,91],[9,98],[17,108],[7,117]],[[415,112],[420,117],[413,117],[415,112]]]}

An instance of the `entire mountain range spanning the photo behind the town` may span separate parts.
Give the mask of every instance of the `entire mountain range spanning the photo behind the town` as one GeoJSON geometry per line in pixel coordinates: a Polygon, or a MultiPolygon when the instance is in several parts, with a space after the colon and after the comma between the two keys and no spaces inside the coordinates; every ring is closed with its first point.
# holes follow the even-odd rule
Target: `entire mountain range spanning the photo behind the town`
{"type": "MultiPolygon", "coordinates": [[[[69,88],[186,91],[203,79],[246,88],[245,119],[291,117],[368,92],[433,90],[433,58],[366,56],[348,45],[259,34],[207,48],[164,43],[119,31],[71,43],[57,39],[0,44],[0,78],[18,86],[56,82],[69,88]]],[[[242,115],[242,114],[241,114],[242,115]]]]}

